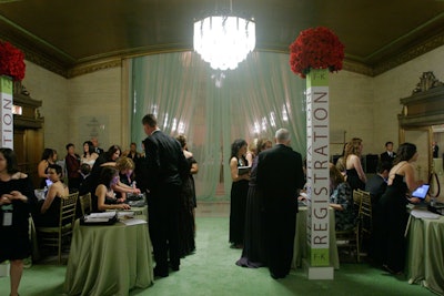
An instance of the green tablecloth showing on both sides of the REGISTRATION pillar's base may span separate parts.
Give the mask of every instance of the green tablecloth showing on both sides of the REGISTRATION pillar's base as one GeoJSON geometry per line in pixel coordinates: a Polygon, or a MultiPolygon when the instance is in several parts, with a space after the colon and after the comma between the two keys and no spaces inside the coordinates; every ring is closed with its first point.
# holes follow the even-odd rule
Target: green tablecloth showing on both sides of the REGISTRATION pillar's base
{"type": "MultiPolygon", "coordinates": [[[[296,215],[296,235],[294,236],[293,263],[294,268],[302,265],[302,258],[307,257],[306,243],[306,207],[300,207],[296,215]]],[[[330,265],[335,269],[340,268],[340,257],[336,247],[336,233],[334,231],[334,210],[330,208],[330,265]]]]}

